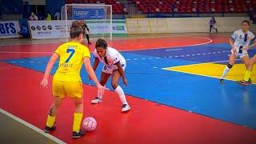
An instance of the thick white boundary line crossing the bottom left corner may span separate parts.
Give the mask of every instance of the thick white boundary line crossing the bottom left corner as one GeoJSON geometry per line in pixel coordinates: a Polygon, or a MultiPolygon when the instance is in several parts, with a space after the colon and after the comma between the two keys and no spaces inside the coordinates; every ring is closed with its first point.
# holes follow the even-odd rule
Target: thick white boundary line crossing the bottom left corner
{"type": "MultiPolygon", "coordinates": [[[[18,118],[18,117],[16,117],[16,116],[13,115],[13,114],[10,114],[10,113],[7,112],[6,110],[2,110],[2,109],[0,108],[0,112],[1,112],[2,114],[5,114],[5,115],[8,116],[8,117],[14,119],[15,121],[20,122],[22,125],[27,126],[27,127],[29,127],[30,129],[32,129],[32,130],[38,132],[39,134],[42,134],[42,135],[45,136],[46,138],[49,138],[50,140],[52,140],[52,141],[54,141],[54,142],[56,142],[56,143],[66,143],[66,142],[63,142],[62,140],[60,140],[60,139],[54,137],[53,135],[50,135],[50,134],[45,133],[43,130],[40,130],[38,127],[31,125],[29,122],[26,122],[26,121],[22,120],[21,118],[18,118]]],[[[36,142],[35,142],[35,143],[36,143],[36,142]]]]}

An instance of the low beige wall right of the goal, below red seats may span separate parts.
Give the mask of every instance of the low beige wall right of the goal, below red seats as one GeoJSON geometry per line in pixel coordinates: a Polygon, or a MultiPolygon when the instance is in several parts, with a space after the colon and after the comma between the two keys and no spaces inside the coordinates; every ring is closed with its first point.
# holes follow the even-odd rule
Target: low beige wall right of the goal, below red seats
{"type": "MultiPolygon", "coordinates": [[[[233,32],[249,17],[216,17],[218,32],[233,32]]],[[[127,18],[128,34],[209,32],[210,18],[127,18]]],[[[256,26],[251,26],[256,32],[256,26]]]]}

